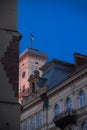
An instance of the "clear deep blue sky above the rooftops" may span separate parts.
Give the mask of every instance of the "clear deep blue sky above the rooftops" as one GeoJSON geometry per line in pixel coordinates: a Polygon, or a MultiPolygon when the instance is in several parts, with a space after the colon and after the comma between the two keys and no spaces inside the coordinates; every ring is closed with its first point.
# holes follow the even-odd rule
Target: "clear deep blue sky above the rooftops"
{"type": "Polygon", "coordinates": [[[73,53],[87,55],[87,0],[18,0],[20,53],[30,47],[73,63],[73,53]]]}

